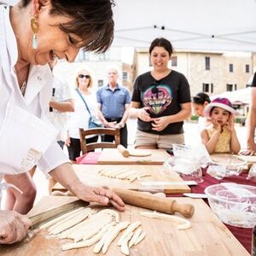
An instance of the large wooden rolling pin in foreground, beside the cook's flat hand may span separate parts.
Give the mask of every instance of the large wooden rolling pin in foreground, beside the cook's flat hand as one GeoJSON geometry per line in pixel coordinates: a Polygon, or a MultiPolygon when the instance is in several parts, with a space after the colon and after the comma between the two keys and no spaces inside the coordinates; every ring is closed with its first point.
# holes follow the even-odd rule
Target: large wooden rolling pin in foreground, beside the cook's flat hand
{"type": "Polygon", "coordinates": [[[172,199],[160,198],[154,195],[143,194],[142,192],[126,189],[112,188],[119,197],[132,206],[143,207],[158,212],[174,214],[178,212],[185,218],[190,218],[195,212],[195,207],[190,204],[178,204],[172,199]]]}

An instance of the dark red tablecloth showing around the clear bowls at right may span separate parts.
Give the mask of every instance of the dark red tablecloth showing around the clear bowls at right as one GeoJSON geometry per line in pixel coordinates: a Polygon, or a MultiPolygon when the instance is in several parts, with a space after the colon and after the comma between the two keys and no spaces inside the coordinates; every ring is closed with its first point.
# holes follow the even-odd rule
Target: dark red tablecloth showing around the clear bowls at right
{"type": "MultiPolygon", "coordinates": [[[[191,187],[192,193],[204,193],[207,186],[218,183],[239,183],[239,184],[247,184],[256,186],[256,183],[250,180],[247,180],[247,173],[241,173],[239,176],[230,176],[224,177],[221,181],[207,174],[206,170],[203,171],[203,183],[199,183],[197,186],[191,187]]],[[[181,195],[166,195],[168,197],[172,196],[181,196],[181,195]]],[[[207,202],[207,200],[205,200],[207,202]]],[[[243,247],[247,249],[249,253],[251,253],[252,247],[252,232],[253,229],[244,229],[237,228],[226,224],[226,227],[231,231],[231,233],[236,236],[236,239],[241,242],[243,247]]]]}

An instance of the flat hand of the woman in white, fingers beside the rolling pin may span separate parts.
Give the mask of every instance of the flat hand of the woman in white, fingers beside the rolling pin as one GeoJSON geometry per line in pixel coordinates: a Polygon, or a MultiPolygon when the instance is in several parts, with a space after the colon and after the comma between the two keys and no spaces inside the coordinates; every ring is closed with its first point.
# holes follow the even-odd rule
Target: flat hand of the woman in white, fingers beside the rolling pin
{"type": "Polygon", "coordinates": [[[113,205],[120,212],[125,211],[124,202],[112,190],[90,187],[81,183],[78,191],[76,191],[76,195],[84,201],[97,202],[103,206],[113,205]]]}

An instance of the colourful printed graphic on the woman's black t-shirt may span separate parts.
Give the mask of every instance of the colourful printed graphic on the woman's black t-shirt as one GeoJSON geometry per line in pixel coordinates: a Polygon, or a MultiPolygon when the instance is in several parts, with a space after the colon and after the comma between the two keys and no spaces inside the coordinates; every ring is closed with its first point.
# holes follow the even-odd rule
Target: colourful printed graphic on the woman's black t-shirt
{"type": "Polygon", "coordinates": [[[166,84],[151,85],[143,93],[143,104],[149,107],[149,111],[160,114],[166,110],[172,102],[172,89],[166,84]]]}

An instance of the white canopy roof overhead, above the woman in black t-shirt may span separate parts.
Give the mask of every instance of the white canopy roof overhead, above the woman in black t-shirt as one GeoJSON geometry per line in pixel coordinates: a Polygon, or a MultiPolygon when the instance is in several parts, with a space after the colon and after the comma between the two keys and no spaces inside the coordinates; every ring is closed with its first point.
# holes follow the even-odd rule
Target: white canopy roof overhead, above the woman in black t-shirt
{"type": "Polygon", "coordinates": [[[115,0],[114,46],[256,52],[255,0],[115,0]]]}

